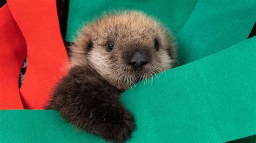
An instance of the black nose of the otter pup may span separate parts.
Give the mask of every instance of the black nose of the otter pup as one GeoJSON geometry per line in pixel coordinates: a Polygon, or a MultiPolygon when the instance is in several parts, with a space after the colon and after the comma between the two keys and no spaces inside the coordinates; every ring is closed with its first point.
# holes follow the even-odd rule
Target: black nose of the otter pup
{"type": "Polygon", "coordinates": [[[146,58],[144,57],[144,55],[140,52],[136,52],[133,54],[129,65],[134,66],[135,68],[140,68],[143,65],[145,65],[148,61],[146,60],[146,58]]]}

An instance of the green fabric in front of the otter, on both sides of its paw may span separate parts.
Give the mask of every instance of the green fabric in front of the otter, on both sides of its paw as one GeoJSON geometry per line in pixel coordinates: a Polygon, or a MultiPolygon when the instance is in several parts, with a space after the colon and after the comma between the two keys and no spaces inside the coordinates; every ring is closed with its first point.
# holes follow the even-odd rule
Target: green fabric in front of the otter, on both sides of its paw
{"type": "MultiPolygon", "coordinates": [[[[224,142],[256,133],[256,37],[161,73],[122,95],[128,142],[224,142]],[[204,68],[202,68],[204,67],[204,68]]],[[[3,142],[101,142],[51,110],[0,111],[3,142]]]]}

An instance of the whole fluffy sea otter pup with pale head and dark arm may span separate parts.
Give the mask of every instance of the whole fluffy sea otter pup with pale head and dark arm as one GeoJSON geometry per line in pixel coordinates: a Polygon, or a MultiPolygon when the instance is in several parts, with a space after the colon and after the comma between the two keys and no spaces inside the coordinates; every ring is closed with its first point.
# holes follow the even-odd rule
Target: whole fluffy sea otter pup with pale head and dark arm
{"type": "Polygon", "coordinates": [[[138,11],[116,12],[84,26],[71,46],[70,68],[48,109],[106,140],[122,142],[134,130],[120,94],[176,63],[170,33],[138,11]]]}

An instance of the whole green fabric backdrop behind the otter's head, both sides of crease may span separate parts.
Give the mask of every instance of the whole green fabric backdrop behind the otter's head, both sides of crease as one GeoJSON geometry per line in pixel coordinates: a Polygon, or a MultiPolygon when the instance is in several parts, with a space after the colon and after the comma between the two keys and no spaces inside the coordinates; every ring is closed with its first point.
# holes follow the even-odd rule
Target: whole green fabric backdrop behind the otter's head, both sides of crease
{"type": "Polygon", "coordinates": [[[141,10],[156,17],[177,37],[180,65],[245,40],[256,20],[256,1],[70,1],[66,40],[84,23],[111,10],[141,10]]]}

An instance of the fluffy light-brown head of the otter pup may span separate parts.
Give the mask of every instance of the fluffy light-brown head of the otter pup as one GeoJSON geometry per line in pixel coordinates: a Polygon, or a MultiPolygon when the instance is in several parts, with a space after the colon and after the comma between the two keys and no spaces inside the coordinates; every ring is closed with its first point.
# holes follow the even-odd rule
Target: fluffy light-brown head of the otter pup
{"type": "Polygon", "coordinates": [[[137,11],[114,13],[90,23],[71,50],[71,67],[91,66],[119,89],[172,68],[176,60],[169,32],[137,11]]]}

